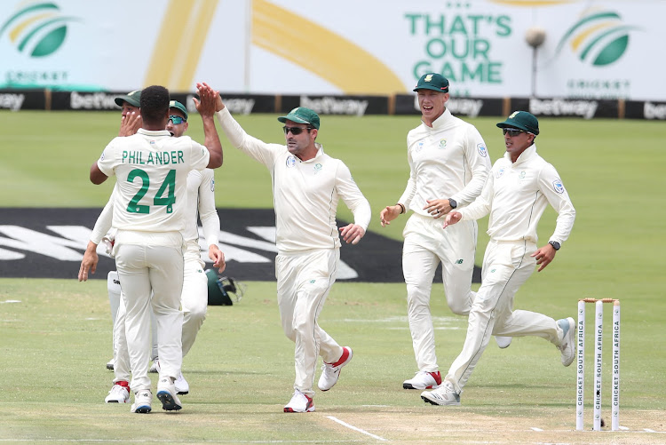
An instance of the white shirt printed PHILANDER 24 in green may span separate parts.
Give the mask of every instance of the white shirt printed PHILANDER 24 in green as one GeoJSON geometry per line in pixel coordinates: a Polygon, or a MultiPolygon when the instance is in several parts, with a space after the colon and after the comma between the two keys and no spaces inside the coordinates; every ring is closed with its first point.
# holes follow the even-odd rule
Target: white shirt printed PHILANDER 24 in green
{"type": "Polygon", "coordinates": [[[178,232],[185,228],[186,178],[209,163],[206,147],[166,130],[139,131],[107,145],[99,170],[115,175],[113,226],[137,232],[178,232]]]}

